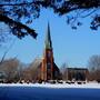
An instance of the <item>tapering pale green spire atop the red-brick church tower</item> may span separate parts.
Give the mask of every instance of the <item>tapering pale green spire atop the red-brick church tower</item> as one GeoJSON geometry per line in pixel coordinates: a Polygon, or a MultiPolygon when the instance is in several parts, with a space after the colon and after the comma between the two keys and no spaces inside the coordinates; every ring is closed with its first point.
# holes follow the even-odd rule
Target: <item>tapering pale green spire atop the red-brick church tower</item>
{"type": "Polygon", "coordinates": [[[48,22],[48,30],[47,30],[47,34],[46,34],[46,49],[52,49],[49,22],[48,22]]]}

